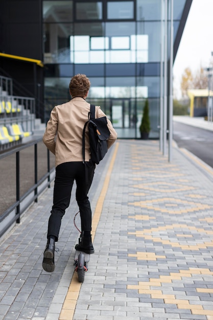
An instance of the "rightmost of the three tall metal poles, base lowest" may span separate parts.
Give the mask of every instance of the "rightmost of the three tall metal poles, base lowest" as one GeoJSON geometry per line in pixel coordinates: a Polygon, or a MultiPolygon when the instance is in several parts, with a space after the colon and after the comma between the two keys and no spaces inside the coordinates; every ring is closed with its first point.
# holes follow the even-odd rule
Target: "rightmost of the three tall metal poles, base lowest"
{"type": "Polygon", "coordinates": [[[169,105],[169,162],[172,161],[172,140],[173,140],[173,0],[170,8],[170,105],[169,105]]]}

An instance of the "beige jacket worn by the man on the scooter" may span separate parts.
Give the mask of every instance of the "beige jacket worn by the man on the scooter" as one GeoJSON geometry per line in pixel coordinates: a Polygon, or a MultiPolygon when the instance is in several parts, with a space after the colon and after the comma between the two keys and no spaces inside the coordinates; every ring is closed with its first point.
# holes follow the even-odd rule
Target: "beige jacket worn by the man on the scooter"
{"type": "MultiPolygon", "coordinates": [[[[90,104],[81,97],[75,97],[69,102],[53,108],[50,120],[46,125],[43,142],[55,154],[55,166],[73,161],[83,161],[82,132],[88,120],[90,104]]],[[[96,106],[96,118],[106,116],[99,106],[96,106]]],[[[117,139],[117,133],[109,119],[107,126],[110,131],[108,148],[117,139]]],[[[85,161],[90,159],[88,128],[85,133],[85,161]]]]}

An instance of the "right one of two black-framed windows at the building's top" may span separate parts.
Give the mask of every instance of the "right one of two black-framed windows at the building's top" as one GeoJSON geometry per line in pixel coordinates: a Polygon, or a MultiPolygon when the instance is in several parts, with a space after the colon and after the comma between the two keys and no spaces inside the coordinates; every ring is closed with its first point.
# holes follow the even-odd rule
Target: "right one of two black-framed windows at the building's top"
{"type": "Polygon", "coordinates": [[[107,2],[107,19],[133,19],[133,1],[107,2]]]}

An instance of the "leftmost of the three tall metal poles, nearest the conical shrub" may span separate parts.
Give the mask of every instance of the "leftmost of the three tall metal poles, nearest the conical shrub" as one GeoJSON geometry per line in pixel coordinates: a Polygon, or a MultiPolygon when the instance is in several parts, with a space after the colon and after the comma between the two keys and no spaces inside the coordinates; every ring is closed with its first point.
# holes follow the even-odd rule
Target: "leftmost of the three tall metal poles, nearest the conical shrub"
{"type": "Polygon", "coordinates": [[[159,149],[163,150],[163,0],[161,0],[161,21],[160,21],[160,126],[159,126],[159,149]]]}

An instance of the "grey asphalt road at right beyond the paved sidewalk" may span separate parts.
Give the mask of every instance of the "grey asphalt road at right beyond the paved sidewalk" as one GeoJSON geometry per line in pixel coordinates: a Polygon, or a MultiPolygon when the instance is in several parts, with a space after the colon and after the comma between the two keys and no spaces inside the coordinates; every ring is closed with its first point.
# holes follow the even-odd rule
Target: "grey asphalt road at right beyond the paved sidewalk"
{"type": "Polygon", "coordinates": [[[173,139],[213,168],[213,131],[173,122],[173,139]]]}

